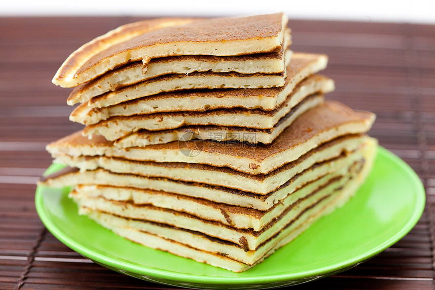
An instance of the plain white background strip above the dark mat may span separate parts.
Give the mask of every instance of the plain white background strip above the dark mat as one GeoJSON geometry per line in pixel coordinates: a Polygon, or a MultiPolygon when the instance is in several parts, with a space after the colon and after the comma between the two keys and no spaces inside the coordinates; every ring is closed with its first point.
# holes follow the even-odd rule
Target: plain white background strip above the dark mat
{"type": "MultiPolygon", "coordinates": [[[[435,24],[433,0],[57,0],[0,4],[4,16],[232,16],[285,12],[295,19],[435,24]]],[[[435,33],[435,32],[434,32],[435,33]]]]}

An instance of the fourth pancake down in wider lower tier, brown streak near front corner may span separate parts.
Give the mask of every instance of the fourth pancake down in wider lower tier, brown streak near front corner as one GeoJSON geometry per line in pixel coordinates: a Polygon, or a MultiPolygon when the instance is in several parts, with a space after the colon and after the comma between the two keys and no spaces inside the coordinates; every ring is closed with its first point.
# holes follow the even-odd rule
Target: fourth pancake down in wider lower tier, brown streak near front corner
{"type": "MultiPolygon", "coordinates": [[[[344,168],[344,167],[343,167],[344,168]]],[[[347,169],[347,168],[346,168],[347,169]]],[[[183,212],[200,219],[216,221],[238,229],[253,229],[259,231],[277,218],[282,212],[301,198],[327,183],[341,178],[338,173],[328,174],[315,181],[303,184],[301,188],[291,192],[267,211],[242,208],[200,198],[180,194],[136,189],[133,187],[113,187],[102,185],[77,185],[76,194],[87,197],[102,197],[106,200],[132,203],[147,213],[154,207],[183,212]]]]}

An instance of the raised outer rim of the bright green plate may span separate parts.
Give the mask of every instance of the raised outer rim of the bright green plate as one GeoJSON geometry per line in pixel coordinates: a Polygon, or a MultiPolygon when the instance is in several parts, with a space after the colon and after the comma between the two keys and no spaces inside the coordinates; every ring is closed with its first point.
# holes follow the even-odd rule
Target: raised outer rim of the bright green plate
{"type": "MultiPolygon", "coordinates": [[[[410,182],[412,181],[413,188],[415,189],[415,206],[412,211],[412,215],[408,219],[408,221],[404,224],[404,226],[394,235],[392,235],[389,239],[385,240],[383,243],[374,247],[371,251],[364,253],[362,255],[353,257],[352,259],[345,259],[342,262],[334,263],[330,266],[322,267],[320,269],[312,269],[312,270],[304,270],[303,272],[298,273],[281,273],[269,276],[258,276],[258,277],[243,277],[243,272],[240,273],[240,276],[237,277],[225,277],[225,276],[204,276],[197,274],[189,274],[189,273],[178,273],[171,270],[163,270],[156,269],[149,266],[137,266],[135,263],[129,263],[128,261],[121,261],[119,258],[111,258],[105,256],[103,253],[99,253],[97,251],[90,251],[86,245],[80,244],[80,242],[75,241],[72,237],[67,238],[66,234],[59,229],[52,221],[52,218],[48,216],[48,214],[44,210],[43,206],[43,194],[41,193],[42,187],[37,186],[35,192],[35,206],[36,211],[41,219],[42,223],[47,227],[47,229],[62,243],[71,248],[73,251],[89,258],[90,260],[96,262],[100,265],[107,265],[112,268],[119,268],[122,270],[127,270],[129,272],[145,275],[154,278],[161,278],[168,281],[174,281],[177,283],[194,283],[195,285],[247,285],[247,284],[266,284],[273,282],[284,282],[284,281],[296,281],[300,279],[306,279],[309,277],[323,276],[328,273],[333,273],[336,271],[340,271],[341,269],[352,267],[353,265],[357,265],[365,260],[379,254],[384,251],[389,246],[393,245],[401,238],[403,238],[418,222],[420,219],[424,207],[425,207],[425,190],[424,186],[418,177],[418,175],[414,172],[414,170],[400,157],[396,154],[388,151],[387,149],[378,146],[377,149],[377,157],[379,155],[383,155],[382,157],[388,159],[395,165],[398,165],[401,170],[404,170],[404,173],[410,178],[410,182]]],[[[47,172],[53,170],[55,167],[61,167],[62,165],[57,163],[52,163],[48,168],[47,172]]],[[[174,283],[172,285],[180,284],[174,283]]]]}

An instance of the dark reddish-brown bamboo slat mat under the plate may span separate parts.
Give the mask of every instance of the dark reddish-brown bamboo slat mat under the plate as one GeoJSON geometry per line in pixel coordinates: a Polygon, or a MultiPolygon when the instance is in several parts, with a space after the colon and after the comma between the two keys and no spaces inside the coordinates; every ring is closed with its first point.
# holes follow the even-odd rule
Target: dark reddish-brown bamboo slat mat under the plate
{"type": "MultiPolygon", "coordinates": [[[[81,129],[68,89],[51,84],[90,39],[139,18],[0,18],[0,289],[171,288],[107,270],[69,250],[34,209],[45,145],[81,129]]],[[[290,20],[294,51],[326,53],[329,99],[373,111],[371,135],[426,188],[421,220],[395,245],[341,274],[294,289],[434,289],[435,26],[290,20]]]]}

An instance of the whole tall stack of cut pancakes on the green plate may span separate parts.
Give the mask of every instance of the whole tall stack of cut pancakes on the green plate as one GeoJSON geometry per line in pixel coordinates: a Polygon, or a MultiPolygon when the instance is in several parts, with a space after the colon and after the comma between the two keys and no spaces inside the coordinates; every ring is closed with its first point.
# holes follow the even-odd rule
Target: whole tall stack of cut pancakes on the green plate
{"type": "MultiPolygon", "coordinates": [[[[132,241],[235,272],[349,199],[370,171],[374,115],[325,101],[325,55],[293,53],[283,14],[163,18],[75,51],[84,129],[47,146],[79,213],[132,241]]],[[[291,245],[289,245],[291,246],[291,245]]]]}

